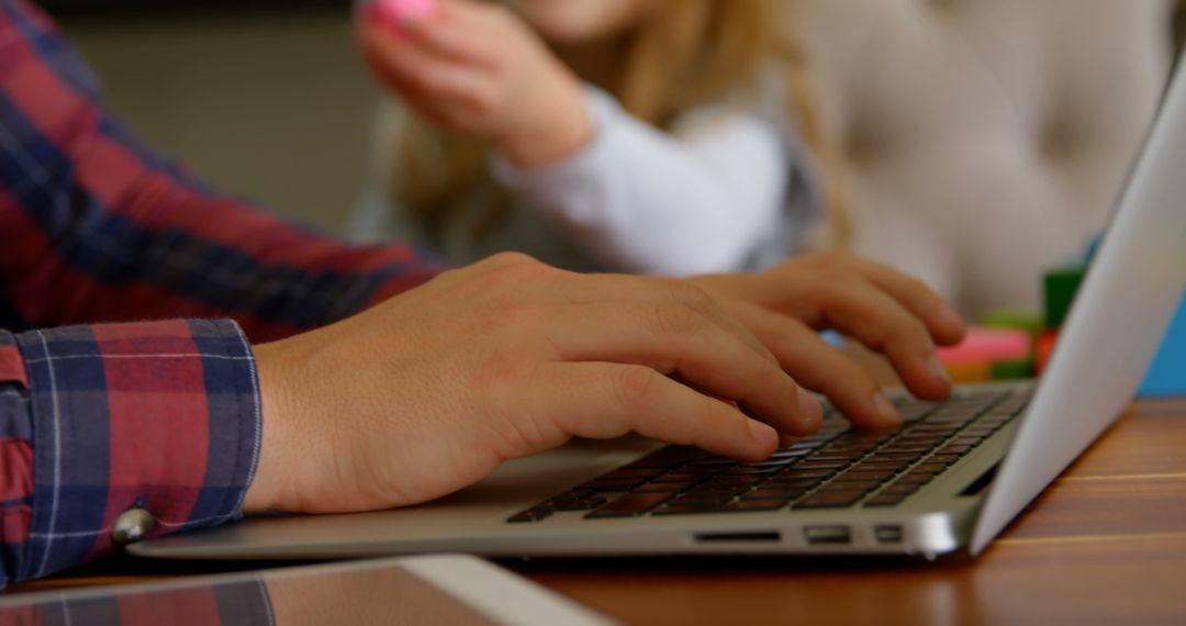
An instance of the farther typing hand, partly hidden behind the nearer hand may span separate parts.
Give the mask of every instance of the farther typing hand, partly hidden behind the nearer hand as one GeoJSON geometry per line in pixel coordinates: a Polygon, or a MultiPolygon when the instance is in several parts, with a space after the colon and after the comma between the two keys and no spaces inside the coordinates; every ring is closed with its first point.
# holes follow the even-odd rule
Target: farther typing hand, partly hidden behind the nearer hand
{"type": "Polygon", "coordinates": [[[751,275],[693,279],[773,351],[804,387],[828,396],[857,426],[900,423],[880,385],[820,338],[835,328],[884,352],[923,398],[951,390],[935,344],[954,345],[964,324],[931,289],[888,267],[843,253],[795,258],[751,275]]]}

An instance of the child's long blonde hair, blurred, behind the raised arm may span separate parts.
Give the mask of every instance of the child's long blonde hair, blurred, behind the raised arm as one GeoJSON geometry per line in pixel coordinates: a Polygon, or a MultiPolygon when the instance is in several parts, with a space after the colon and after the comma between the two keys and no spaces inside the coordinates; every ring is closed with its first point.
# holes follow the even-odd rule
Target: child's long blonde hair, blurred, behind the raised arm
{"type": "MultiPolygon", "coordinates": [[[[847,239],[847,211],[841,200],[840,159],[822,127],[817,90],[803,51],[786,32],[793,18],[790,0],[671,0],[639,24],[625,45],[617,79],[604,85],[635,117],[658,128],[693,108],[738,95],[757,97],[760,75],[772,63],[786,74],[788,107],[801,139],[821,164],[820,186],[833,243],[847,239]],[[780,13],[788,12],[788,13],[780,13]]],[[[391,192],[398,204],[431,228],[447,221],[461,194],[477,186],[496,190],[486,161],[490,146],[440,130],[410,111],[397,138],[391,192]]],[[[498,202],[474,236],[493,228],[506,212],[498,202]]]]}

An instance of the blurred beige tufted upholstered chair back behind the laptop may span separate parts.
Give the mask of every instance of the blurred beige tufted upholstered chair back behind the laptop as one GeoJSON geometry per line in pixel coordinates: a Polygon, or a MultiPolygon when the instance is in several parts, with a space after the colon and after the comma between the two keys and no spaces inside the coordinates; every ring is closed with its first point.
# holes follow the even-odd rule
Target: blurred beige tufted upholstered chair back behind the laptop
{"type": "Polygon", "coordinates": [[[850,248],[969,315],[1038,307],[1041,270],[1107,222],[1155,110],[1169,5],[798,1],[850,248]]]}

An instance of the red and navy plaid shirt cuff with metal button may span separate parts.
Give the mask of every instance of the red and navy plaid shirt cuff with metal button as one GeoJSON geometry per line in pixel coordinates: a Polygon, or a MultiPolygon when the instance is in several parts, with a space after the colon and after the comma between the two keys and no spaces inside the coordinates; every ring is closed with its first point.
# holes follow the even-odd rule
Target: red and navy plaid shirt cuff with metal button
{"type": "Polygon", "coordinates": [[[19,579],[241,515],[262,433],[250,346],[232,321],[71,326],[17,337],[33,414],[33,513],[19,579]]]}

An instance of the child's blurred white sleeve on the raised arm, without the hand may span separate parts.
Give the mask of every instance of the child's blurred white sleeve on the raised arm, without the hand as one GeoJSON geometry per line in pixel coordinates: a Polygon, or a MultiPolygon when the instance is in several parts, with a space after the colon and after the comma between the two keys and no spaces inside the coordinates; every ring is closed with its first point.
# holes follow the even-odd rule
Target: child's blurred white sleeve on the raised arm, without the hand
{"type": "Polygon", "coordinates": [[[672,136],[607,96],[591,91],[589,106],[595,136],[576,155],[534,170],[496,158],[493,168],[616,269],[735,270],[783,232],[790,164],[772,124],[728,113],[672,136]]]}

